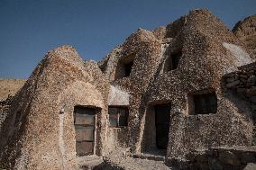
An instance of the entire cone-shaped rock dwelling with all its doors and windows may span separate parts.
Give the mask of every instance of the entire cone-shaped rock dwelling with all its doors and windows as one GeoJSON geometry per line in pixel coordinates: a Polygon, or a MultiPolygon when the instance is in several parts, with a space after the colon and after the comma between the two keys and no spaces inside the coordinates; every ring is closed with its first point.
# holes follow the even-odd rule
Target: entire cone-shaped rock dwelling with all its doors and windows
{"type": "Polygon", "coordinates": [[[97,64],[72,47],[53,49],[14,96],[0,165],[77,169],[96,155],[105,169],[133,169],[132,156],[242,169],[256,160],[255,77],[242,40],[207,10],[139,29],[97,64]]]}

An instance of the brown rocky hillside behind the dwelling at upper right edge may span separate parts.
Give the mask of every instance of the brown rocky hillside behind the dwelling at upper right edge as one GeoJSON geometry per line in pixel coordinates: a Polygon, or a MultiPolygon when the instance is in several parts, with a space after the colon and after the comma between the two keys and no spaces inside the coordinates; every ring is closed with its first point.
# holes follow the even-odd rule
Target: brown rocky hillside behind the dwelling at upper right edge
{"type": "Polygon", "coordinates": [[[256,59],[256,14],[237,22],[233,27],[233,33],[245,42],[251,57],[256,59]]]}

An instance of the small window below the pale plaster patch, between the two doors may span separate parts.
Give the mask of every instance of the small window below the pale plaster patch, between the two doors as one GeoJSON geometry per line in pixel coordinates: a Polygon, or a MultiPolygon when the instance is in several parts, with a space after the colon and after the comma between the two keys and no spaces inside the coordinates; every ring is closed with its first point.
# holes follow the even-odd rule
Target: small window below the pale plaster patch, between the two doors
{"type": "Polygon", "coordinates": [[[127,107],[111,106],[108,108],[109,126],[121,128],[128,125],[129,110],[127,107]]]}

